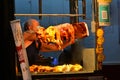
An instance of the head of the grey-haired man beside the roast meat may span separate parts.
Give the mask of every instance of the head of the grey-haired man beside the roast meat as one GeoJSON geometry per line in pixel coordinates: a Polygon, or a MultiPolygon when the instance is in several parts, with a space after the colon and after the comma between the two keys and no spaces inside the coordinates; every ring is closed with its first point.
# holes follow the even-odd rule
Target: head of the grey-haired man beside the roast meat
{"type": "Polygon", "coordinates": [[[24,30],[25,31],[32,30],[32,31],[37,32],[39,29],[39,26],[40,26],[40,24],[36,19],[29,19],[24,24],[24,30]]]}

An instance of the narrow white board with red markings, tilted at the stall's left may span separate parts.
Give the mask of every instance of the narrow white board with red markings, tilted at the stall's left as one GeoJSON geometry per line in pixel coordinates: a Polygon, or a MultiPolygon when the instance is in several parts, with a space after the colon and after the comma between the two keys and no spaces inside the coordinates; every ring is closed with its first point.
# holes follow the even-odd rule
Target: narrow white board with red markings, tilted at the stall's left
{"type": "Polygon", "coordinates": [[[11,24],[11,29],[13,32],[16,50],[18,53],[18,59],[20,62],[23,80],[32,80],[30,70],[29,70],[26,49],[24,48],[24,40],[23,40],[23,34],[22,34],[21,25],[20,25],[20,20],[10,21],[10,24],[11,24]]]}

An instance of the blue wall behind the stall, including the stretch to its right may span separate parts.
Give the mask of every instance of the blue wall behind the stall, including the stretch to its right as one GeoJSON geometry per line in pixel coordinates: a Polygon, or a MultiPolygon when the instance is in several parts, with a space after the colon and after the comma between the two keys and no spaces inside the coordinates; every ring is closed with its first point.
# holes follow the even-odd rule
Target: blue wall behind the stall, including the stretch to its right
{"type": "MultiPolygon", "coordinates": [[[[88,28],[90,31],[90,36],[82,40],[82,43],[87,48],[94,47],[94,33],[91,32],[91,1],[87,1],[87,19],[83,20],[79,18],[80,21],[85,21],[88,24],[88,28]]],[[[105,54],[105,61],[104,63],[120,63],[120,33],[119,33],[119,14],[120,11],[118,9],[120,1],[119,0],[112,0],[110,9],[111,15],[111,26],[104,27],[105,30],[105,43],[104,43],[104,54],[105,54]]],[[[38,0],[15,0],[15,11],[16,13],[38,13],[38,0]],[[22,4],[22,5],[21,5],[22,4]]],[[[69,14],[69,0],[42,0],[42,13],[43,14],[69,14]],[[58,3],[58,4],[57,4],[58,3]]],[[[81,0],[79,0],[79,13],[81,13],[81,0]]],[[[39,20],[40,24],[44,27],[48,27],[50,25],[56,25],[60,23],[69,22],[69,17],[42,17],[39,19],[38,16],[21,16],[16,17],[16,19],[21,19],[21,24],[23,25],[24,22],[29,18],[36,18],[39,20]]],[[[58,56],[59,52],[56,54],[47,54],[48,56],[58,56]]]]}

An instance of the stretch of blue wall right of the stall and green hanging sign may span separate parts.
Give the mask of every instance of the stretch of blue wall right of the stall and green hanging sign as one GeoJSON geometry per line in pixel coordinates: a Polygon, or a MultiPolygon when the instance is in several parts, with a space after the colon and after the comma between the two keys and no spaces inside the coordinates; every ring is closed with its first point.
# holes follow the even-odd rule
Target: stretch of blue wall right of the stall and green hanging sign
{"type": "Polygon", "coordinates": [[[120,1],[112,0],[111,3],[111,26],[105,27],[105,43],[104,54],[106,56],[105,63],[120,64],[120,1]]]}

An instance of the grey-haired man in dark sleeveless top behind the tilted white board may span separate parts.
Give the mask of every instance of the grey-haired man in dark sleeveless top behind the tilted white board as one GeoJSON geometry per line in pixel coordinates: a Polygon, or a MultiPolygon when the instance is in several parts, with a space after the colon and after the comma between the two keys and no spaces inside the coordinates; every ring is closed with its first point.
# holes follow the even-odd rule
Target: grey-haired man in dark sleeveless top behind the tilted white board
{"type": "Polygon", "coordinates": [[[35,19],[29,19],[24,24],[24,45],[26,48],[29,65],[32,65],[36,62],[39,54],[39,46],[40,43],[37,42],[36,32],[38,31],[38,27],[40,26],[39,22],[35,19]]]}

